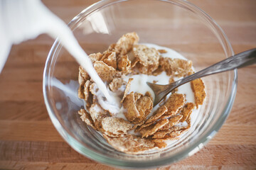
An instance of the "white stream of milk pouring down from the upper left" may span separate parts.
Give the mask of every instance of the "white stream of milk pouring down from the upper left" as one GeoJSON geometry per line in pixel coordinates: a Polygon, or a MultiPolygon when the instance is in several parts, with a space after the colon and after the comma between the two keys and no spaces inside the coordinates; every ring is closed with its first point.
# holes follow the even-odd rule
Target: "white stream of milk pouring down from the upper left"
{"type": "Polygon", "coordinates": [[[116,98],[110,96],[104,82],[100,79],[88,55],[78,44],[72,31],[39,0],[1,0],[0,1],[0,72],[4,67],[12,44],[36,38],[48,33],[58,38],[77,62],[87,71],[98,88],[114,105],[116,98]]]}

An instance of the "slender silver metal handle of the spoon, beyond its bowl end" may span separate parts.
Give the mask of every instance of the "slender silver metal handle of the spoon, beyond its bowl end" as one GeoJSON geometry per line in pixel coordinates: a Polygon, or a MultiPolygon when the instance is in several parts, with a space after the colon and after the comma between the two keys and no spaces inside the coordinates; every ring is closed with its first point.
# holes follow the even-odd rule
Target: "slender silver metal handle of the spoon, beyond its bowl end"
{"type": "MultiPolygon", "coordinates": [[[[199,79],[201,77],[206,77],[210,74],[216,74],[220,72],[226,72],[232,69],[239,69],[242,67],[246,67],[251,64],[256,63],[256,48],[247,50],[245,52],[241,52],[237,55],[233,55],[232,57],[228,57],[221,62],[213,64],[206,69],[202,69],[200,72],[196,72],[195,74],[191,74],[188,77],[184,77],[176,81],[176,87],[181,86],[182,84],[186,84],[188,81],[192,81],[194,79],[199,79]]],[[[173,85],[174,86],[174,85],[173,85]]]]}

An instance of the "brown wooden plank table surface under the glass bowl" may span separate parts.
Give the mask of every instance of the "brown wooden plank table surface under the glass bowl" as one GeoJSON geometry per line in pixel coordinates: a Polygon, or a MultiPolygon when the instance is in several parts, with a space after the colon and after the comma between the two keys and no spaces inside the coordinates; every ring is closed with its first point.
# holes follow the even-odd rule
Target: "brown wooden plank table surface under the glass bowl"
{"type": "MultiPolygon", "coordinates": [[[[43,1],[68,23],[96,1],[43,1]]],[[[256,47],[255,0],[193,0],[225,31],[235,53],[256,47]]],[[[40,35],[11,49],[0,74],[0,169],[112,169],[75,152],[53,127],[42,78],[53,45],[40,35]]],[[[256,169],[256,65],[238,70],[235,104],[206,147],[162,169],[256,169]]]]}

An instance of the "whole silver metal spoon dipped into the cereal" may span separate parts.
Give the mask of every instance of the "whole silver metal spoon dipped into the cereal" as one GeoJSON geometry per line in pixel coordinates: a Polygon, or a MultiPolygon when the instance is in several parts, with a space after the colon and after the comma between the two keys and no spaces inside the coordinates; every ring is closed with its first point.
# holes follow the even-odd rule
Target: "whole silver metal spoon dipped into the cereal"
{"type": "Polygon", "coordinates": [[[213,64],[206,69],[201,70],[200,72],[196,72],[195,74],[191,74],[188,77],[184,77],[183,79],[179,79],[171,84],[159,85],[152,84],[146,82],[149,87],[154,91],[155,99],[154,106],[156,106],[167,94],[169,94],[172,90],[176,89],[178,86],[182,84],[186,84],[189,81],[193,81],[194,79],[199,79],[201,77],[206,77],[211,74],[216,74],[220,72],[226,72],[231,69],[239,69],[242,67],[246,67],[248,65],[256,63],[256,48],[247,50],[245,52],[241,52],[237,55],[233,55],[232,57],[228,57],[221,62],[213,64]]]}

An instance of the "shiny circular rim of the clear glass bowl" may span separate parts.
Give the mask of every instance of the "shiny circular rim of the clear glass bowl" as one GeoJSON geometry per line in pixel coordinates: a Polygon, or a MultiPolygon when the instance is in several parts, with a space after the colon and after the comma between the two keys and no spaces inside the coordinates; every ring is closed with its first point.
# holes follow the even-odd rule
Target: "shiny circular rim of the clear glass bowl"
{"type": "MultiPolygon", "coordinates": [[[[95,4],[92,4],[91,6],[88,6],[84,10],[82,10],[77,16],[75,16],[70,21],[70,23],[68,23],[68,26],[71,28],[73,24],[75,24],[76,22],[79,21],[80,16],[85,15],[85,13],[87,13],[87,15],[89,15],[90,13],[93,13],[98,8],[104,8],[105,6],[109,6],[111,4],[119,3],[122,1],[132,1],[132,0],[102,0],[102,1],[99,1],[95,4]]],[[[208,16],[208,14],[206,12],[201,10],[201,8],[198,8],[197,6],[195,6],[185,0],[154,0],[154,1],[166,1],[166,2],[171,2],[173,4],[175,4],[174,1],[176,1],[177,3],[186,4],[187,6],[194,8],[194,10],[198,11],[198,13],[200,13],[202,15],[202,17],[204,19],[206,19],[206,21],[209,21],[213,26],[215,26],[215,29],[218,29],[218,32],[224,38],[223,40],[225,40],[225,42],[226,42],[226,45],[227,45],[226,48],[228,48],[226,50],[228,50],[232,55],[234,55],[233,48],[230,44],[230,41],[228,40],[228,38],[225,35],[222,28],[220,28],[220,26],[218,26],[218,24],[213,20],[213,18],[211,18],[210,16],[208,16]]],[[[53,125],[55,126],[56,130],[60,133],[61,137],[63,137],[63,139],[68,143],[68,145],[70,145],[70,147],[73,147],[73,149],[75,149],[77,152],[84,155],[85,157],[95,160],[97,162],[100,162],[102,164],[107,164],[107,165],[117,166],[117,167],[122,167],[122,168],[153,168],[153,167],[157,167],[157,166],[166,166],[168,164],[177,162],[178,160],[181,160],[183,158],[191,156],[192,154],[195,154],[200,149],[202,149],[203,146],[206,145],[206,143],[209,142],[209,140],[216,134],[216,132],[218,132],[218,130],[220,130],[221,126],[223,125],[225,120],[228,118],[228,114],[230,113],[233,103],[235,101],[235,94],[237,91],[237,84],[238,84],[238,70],[237,69],[230,71],[230,72],[234,73],[234,77],[233,77],[233,82],[232,82],[233,84],[231,86],[230,96],[228,97],[229,102],[225,105],[220,118],[213,125],[213,127],[210,128],[210,130],[208,130],[208,132],[206,132],[205,135],[201,136],[201,140],[198,140],[197,142],[193,143],[193,145],[188,146],[183,151],[178,152],[178,154],[176,154],[175,157],[167,157],[164,159],[163,158],[154,159],[154,160],[150,160],[150,162],[135,162],[135,161],[131,161],[131,160],[122,161],[119,159],[113,159],[110,157],[106,157],[104,154],[97,154],[97,153],[93,152],[91,149],[85,148],[83,145],[81,145],[80,142],[78,142],[73,137],[72,134],[70,134],[67,130],[65,130],[62,127],[60,121],[58,120],[57,116],[55,115],[55,113],[53,111],[53,108],[50,106],[50,102],[49,102],[50,97],[48,96],[48,93],[47,93],[47,88],[49,89],[48,82],[50,82],[50,77],[48,77],[48,75],[50,74],[49,66],[50,66],[51,62],[53,61],[52,57],[54,56],[53,54],[55,53],[55,49],[58,47],[58,45],[59,45],[59,42],[58,42],[58,38],[57,38],[55,40],[55,42],[53,43],[53,46],[50,48],[50,52],[48,54],[46,64],[44,67],[44,71],[43,71],[43,98],[44,98],[44,101],[46,104],[48,114],[50,116],[50,120],[53,122],[53,125]],[[143,164],[143,163],[147,163],[147,164],[143,164]]]]}

